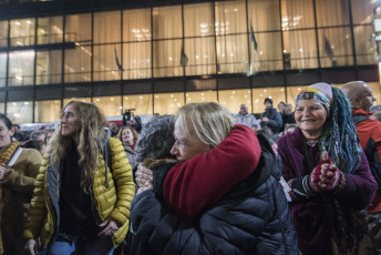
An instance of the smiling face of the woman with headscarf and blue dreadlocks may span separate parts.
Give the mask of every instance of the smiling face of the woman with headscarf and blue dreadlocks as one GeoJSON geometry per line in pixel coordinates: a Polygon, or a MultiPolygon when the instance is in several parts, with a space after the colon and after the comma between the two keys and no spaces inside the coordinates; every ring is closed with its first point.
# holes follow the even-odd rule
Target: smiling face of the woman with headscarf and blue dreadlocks
{"type": "Polygon", "coordinates": [[[305,136],[320,136],[327,119],[325,106],[317,100],[300,100],[295,109],[295,120],[305,136]]]}

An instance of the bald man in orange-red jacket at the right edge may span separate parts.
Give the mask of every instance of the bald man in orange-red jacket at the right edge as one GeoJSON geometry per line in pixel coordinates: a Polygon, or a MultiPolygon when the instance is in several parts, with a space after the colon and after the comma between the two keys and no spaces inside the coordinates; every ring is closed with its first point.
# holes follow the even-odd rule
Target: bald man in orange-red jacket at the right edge
{"type": "Polygon", "coordinates": [[[360,136],[360,144],[367,154],[372,174],[378,182],[378,192],[372,205],[368,208],[368,228],[373,236],[374,254],[381,253],[381,123],[371,120],[370,111],[375,101],[372,89],[363,81],[348,82],[342,92],[351,102],[356,130],[360,136]]]}

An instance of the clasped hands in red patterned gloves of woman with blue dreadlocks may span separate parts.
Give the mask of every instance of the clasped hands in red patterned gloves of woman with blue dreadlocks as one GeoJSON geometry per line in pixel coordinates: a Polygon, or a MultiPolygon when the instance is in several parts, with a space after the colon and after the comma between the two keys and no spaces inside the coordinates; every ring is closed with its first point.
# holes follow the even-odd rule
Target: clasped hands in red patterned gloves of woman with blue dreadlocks
{"type": "Polygon", "coordinates": [[[342,186],[342,181],[344,181],[343,173],[334,165],[327,151],[323,151],[320,164],[309,175],[308,185],[312,193],[334,191],[342,186]]]}

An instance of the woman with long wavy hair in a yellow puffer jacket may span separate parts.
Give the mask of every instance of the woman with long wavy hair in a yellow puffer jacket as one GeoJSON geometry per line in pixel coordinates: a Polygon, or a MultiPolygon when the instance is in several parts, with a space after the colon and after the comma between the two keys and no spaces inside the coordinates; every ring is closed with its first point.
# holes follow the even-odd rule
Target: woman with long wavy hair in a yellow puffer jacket
{"type": "Polygon", "coordinates": [[[122,143],[95,104],[69,102],[35,182],[24,237],[48,254],[112,254],[128,231],[135,193],[122,143]],[[42,227],[41,227],[42,226],[42,227]]]}

